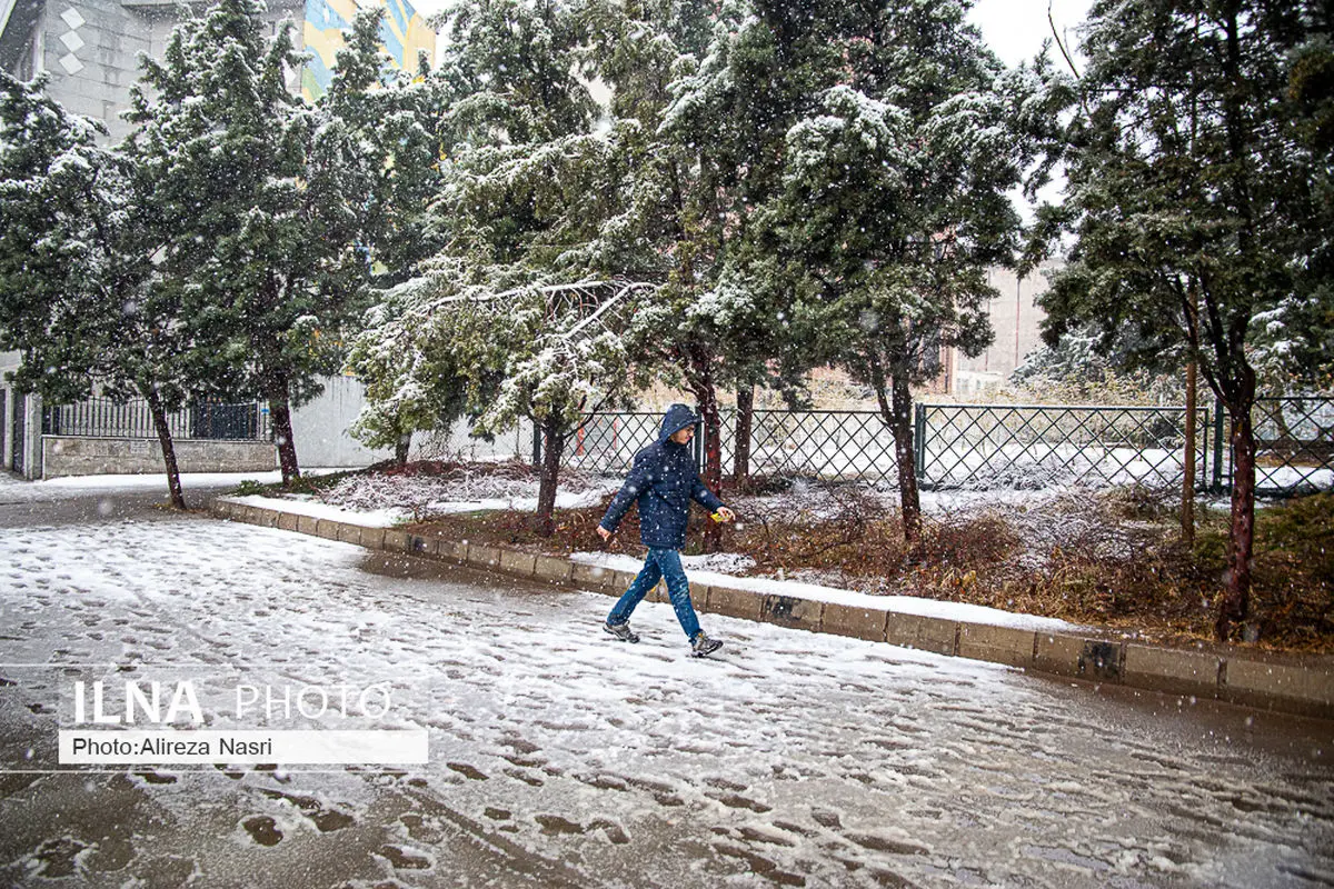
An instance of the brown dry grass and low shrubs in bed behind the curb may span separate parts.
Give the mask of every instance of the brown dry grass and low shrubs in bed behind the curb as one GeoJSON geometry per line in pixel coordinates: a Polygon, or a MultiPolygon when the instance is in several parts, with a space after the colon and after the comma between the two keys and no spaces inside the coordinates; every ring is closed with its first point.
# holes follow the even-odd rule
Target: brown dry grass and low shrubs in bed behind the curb
{"type": "MultiPolygon", "coordinates": [[[[911,550],[898,510],[883,496],[802,484],[796,490],[791,482],[762,484],[734,498],[740,521],[724,526],[722,549],[754,558],[748,573],[1061,617],[1149,641],[1213,640],[1226,514],[1205,514],[1195,546],[1186,548],[1171,494],[1067,493],[936,512],[911,550]]],[[[550,538],[538,533],[531,514],[516,512],[440,516],[420,526],[532,550],[639,556],[636,510],[610,545],[598,538],[608,500],[558,510],[550,538]]],[[[692,510],[686,552],[700,552],[707,521],[692,510]]],[[[1267,648],[1334,652],[1331,534],[1334,494],[1261,510],[1251,620],[1233,641],[1258,637],[1267,648]]]]}

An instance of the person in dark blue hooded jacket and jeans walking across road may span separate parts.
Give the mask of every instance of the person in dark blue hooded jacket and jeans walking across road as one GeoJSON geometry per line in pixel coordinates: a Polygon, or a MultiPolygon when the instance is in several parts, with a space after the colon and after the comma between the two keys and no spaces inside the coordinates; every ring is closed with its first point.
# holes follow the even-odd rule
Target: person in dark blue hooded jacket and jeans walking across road
{"type": "Polygon", "coordinates": [[[718,513],[723,521],[731,521],[736,514],[699,480],[699,470],[690,449],[696,421],[695,413],[683,404],[667,408],[658,441],[635,454],[635,465],[626,484],[607,506],[607,514],[598,525],[598,536],[611,540],[616,533],[616,525],[630,512],[630,505],[639,504],[639,540],[648,548],[648,554],[644,556],[644,566],[639,576],[611,609],[603,629],[619,640],[638,642],[639,636],[630,629],[630,614],[648,590],[656,586],[659,580],[666,578],[671,606],[676,612],[680,628],[686,630],[691,650],[696,656],[703,656],[716,652],[723,644],[716,638],[708,638],[699,629],[699,618],[690,601],[690,582],[680,566],[690,501],[699,501],[718,513]]]}

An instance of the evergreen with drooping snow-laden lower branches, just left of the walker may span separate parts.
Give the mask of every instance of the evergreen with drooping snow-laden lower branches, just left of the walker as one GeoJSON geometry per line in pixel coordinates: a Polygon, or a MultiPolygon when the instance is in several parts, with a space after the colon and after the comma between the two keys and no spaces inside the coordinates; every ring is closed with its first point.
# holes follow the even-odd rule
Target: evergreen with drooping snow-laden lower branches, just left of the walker
{"type": "Polygon", "coordinates": [[[448,43],[430,84],[443,185],[428,227],[442,248],[367,335],[368,353],[398,343],[411,356],[372,393],[375,411],[414,405],[402,425],[422,423],[462,385],[476,432],[519,416],[543,431],[538,518],[548,533],[566,437],[580,412],[626,384],[619,344],[571,336],[586,313],[555,297],[590,280],[582,248],[607,215],[607,140],[578,76],[586,31],[576,12],[500,0],[442,13],[448,43]]]}

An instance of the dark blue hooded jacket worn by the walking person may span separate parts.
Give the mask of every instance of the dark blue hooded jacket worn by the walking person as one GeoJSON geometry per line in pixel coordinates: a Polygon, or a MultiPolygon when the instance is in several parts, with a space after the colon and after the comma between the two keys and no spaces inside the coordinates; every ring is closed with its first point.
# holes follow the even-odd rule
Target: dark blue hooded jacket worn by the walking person
{"type": "Polygon", "coordinates": [[[616,497],[602,517],[602,526],[616,525],[639,502],[639,540],[651,549],[680,549],[686,545],[690,501],[696,500],[710,512],[723,505],[695,468],[690,445],[670,441],[671,436],[696,423],[695,413],[683,404],[674,404],[663,415],[658,441],[635,454],[635,465],[616,497]]]}

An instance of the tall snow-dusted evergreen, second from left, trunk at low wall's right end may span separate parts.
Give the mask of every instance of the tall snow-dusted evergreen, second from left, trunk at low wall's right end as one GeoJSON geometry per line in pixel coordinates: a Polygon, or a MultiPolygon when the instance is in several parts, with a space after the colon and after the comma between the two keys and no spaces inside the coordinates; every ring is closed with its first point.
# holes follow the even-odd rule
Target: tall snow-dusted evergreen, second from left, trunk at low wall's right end
{"type": "Polygon", "coordinates": [[[291,408],[342,367],[360,309],[364,176],[350,133],[293,97],[287,29],[259,0],[220,0],[145,61],[125,145],[152,184],[165,261],[188,281],[191,324],[232,368],[215,385],[268,401],[284,481],[300,474],[291,408]]]}

